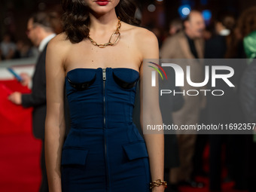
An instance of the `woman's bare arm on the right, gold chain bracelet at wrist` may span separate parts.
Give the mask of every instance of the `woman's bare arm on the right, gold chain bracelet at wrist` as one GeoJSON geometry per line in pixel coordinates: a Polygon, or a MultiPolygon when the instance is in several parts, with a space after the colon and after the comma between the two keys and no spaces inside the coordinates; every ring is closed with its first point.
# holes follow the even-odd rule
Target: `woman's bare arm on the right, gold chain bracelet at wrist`
{"type": "MultiPolygon", "coordinates": [[[[143,59],[142,66],[140,67],[140,123],[148,149],[151,180],[163,180],[163,130],[145,130],[148,125],[163,125],[159,105],[159,87],[157,86],[158,77],[156,76],[156,87],[151,87],[151,72],[152,70],[154,71],[154,69],[148,67],[148,65],[151,65],[151,63],[148,62],[149,59],[153,62],[159,61],[158,41],[157,37],[148,30],[144,32],[144,35],[142,35],[138,41],[140,41],[139,47],[140,50],[142,50],[143,59]],[[145,61],[145,59],[148,60],[145,61]]],[[[162,192],[164,191],[164,186],[160,185],[159,187],[154,187],[152,191],[162,192]]]]}

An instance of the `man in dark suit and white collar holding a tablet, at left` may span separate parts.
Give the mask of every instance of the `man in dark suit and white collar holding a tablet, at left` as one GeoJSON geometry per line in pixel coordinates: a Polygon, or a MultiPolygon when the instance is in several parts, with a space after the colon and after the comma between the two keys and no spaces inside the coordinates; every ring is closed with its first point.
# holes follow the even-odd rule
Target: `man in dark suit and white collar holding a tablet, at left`
{"type": "MultiPolygon", "coordinates": [[[[45,75],[45,56],[47,43],[56,34],[53,32],[53,26],[50,17],[46,13],[34,14],[29,18],[27,25],[27,35],[29,39],[38,47],[40,55],[35,65],[35,73],[32,78],[32,93],[22,94],[12,93],[8,99],[17,105],[23,105],[24,108],[33,107],[33,134],[35,138],[41,139],[41,172],[42,182],[40,192],[48,191],[47,174],[44,160],[44,121],[46,117],[46,75],[45,75]]],[[[29,78],[23,75],[23,85],[29,83],[29,78]]]]}

